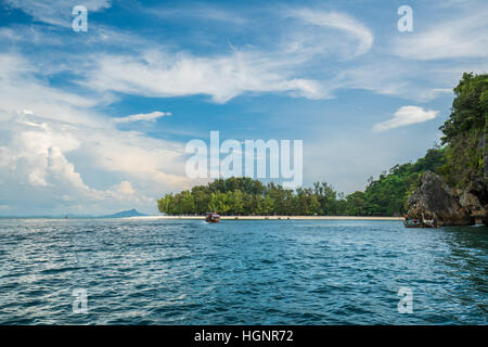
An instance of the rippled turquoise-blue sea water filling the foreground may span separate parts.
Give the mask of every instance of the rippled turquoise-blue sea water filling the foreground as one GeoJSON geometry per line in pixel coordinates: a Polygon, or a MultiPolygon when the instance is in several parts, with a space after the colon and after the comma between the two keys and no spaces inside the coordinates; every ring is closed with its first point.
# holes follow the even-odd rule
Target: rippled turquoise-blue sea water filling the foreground
{"type": "Polygon", "coordinates": [[[485,227],[0,219],[0,324],[487,323],[485,227]]]}

